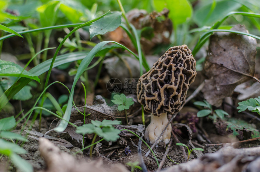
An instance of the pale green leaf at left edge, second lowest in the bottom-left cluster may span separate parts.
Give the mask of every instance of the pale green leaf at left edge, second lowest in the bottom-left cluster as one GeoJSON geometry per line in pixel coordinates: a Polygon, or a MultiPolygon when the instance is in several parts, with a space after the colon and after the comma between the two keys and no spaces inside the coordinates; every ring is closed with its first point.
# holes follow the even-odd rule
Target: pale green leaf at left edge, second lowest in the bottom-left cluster
{"type": "Polygon", "coordinates": [[[24,150],[23,148],[21,148],[17,144],[5,141],[3,139],[0,139],[0,153],[2,151],[6,151],[6,150],[10,150],[11,153],[14,152],[14,153],[17,153],[17,154],[25,154],[26,153],[26,150],[24,150]]]}

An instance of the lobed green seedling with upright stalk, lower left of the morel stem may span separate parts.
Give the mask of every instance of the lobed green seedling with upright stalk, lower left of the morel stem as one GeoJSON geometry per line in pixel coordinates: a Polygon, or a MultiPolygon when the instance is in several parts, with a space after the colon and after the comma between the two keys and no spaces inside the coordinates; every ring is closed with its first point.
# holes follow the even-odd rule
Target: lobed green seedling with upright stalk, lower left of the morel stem
{"type": "MultiPolygon", "coordinates": [[[[100,136],[106,141],[116,141],[119,138],[119,129],[113,127],[113,125],[121,124],[121,121],[111,121],[104,119],[102,122],[91,120],[91,124],[84,124],[77,128],[76,133],[82,135],[95,134],[91,144],[94,144],[96,137],[100,136]]],[[[93,145],[90,147],[89,156],[92,158],[93,145]]]]}

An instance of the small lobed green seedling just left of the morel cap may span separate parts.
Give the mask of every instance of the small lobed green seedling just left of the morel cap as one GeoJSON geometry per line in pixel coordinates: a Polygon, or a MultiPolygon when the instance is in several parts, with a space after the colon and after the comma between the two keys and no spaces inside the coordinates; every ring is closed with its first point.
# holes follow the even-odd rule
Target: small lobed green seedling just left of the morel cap
{"type": "Polygon", "coordinates": [[[127,113],[126,110],[130,108],[131,105],[134,104],[133,98],[126,98],[126,96],[122,94],[116,94],[112,100],[113,103],[118,105],[117,109],[119,111],[125,110],[125,117],[126,117],[126,123],[128,124],[128,118],[127,118],[127,113]]]}

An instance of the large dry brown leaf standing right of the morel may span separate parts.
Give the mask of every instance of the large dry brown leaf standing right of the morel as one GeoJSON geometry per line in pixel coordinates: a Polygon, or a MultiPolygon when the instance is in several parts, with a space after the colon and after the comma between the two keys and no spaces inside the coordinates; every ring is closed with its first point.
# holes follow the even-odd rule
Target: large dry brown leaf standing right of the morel
{"type": "MultiPolygon", "coordinates": [[[[248,33],[240,24],[231,30],[248,33]]],[[[207,79],[202,89],[210,104],[220,106],[222,99],[231,96],[237,85],[254,76],[255,48],[255,38],[246,35],[217,32],[210,37],[203,69],[207,79]]]]}

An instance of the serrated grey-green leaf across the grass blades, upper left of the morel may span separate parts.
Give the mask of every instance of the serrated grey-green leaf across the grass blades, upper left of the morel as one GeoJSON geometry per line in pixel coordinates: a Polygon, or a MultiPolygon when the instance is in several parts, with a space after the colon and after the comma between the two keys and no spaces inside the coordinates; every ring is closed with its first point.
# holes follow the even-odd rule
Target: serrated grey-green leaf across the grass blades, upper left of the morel
{"type": "Polygon", "coordinates": [[[98,21],[93,22],[90,25],[90,39],[98,34],[105,34],[106,32],[114,31],[121,24],[121,15],[122,12],[115,11],[110,12],[108,15],[99,19],[98,21]]]}

